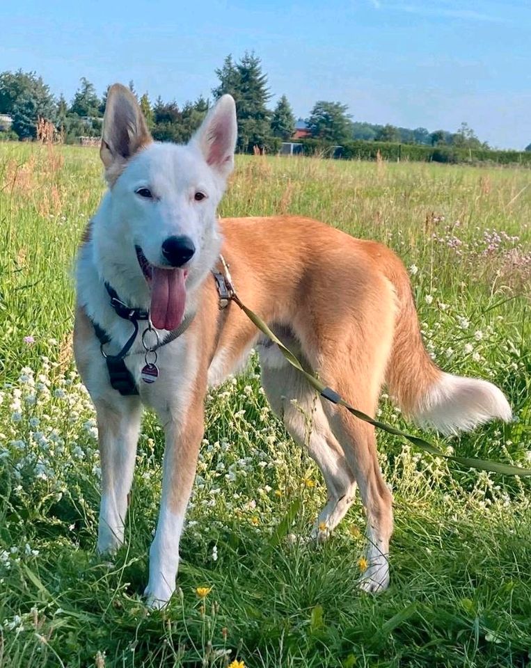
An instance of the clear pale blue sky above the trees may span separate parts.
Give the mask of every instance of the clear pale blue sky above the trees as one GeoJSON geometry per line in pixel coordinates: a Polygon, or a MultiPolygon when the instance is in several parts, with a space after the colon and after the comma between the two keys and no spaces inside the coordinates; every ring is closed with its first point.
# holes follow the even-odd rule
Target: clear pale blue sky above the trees
{"type": "Polygon", "coordinates": [[[115,0],[0,3],[0,71],[35,70],[71,100],[134,81],[151,100],[209,97],[246,50],[296,117],[317,100],[353,120],[531,143],[530,0],[115,0]]]}

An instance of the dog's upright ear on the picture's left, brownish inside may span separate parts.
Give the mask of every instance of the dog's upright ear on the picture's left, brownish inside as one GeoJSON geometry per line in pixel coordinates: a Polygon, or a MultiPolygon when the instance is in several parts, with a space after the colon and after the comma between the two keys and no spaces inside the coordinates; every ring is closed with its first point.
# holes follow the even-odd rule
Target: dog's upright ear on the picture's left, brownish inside
{"type": "Polygon", "coordinates": [[[100,148],[109,185],[120,176],[127,160],[151,141],[136,97],[121,84],[111,86],[107,93],[100,148]]]}

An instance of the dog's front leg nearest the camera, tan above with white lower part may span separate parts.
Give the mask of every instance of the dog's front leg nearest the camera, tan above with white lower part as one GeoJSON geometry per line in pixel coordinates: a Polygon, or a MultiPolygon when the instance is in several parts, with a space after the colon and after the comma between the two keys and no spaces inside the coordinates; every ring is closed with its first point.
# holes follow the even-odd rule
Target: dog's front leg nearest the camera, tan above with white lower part
{"type": "Polygon", "coordinates": [[[161,509],[150,549],[150,579],[145,589],[148,605],[152,607],[164,607],[175,590],[179,542],[196,476],[203,415],[203,397],[196,396],[191,399],[184,420],[170,417],[165,422],[161,509]]]}

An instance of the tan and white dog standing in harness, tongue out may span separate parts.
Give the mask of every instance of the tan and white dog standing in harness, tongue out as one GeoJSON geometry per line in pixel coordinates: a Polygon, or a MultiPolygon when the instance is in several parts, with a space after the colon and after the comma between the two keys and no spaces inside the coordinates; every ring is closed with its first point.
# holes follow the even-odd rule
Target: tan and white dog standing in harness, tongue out
{"type": "Polygon", "coordinates": [[[219,220],[236,139],[230,95],[189,143],[175,145],[152,141],[134,95],[112,86],[100,150],[109,189],[77,256],[74,355],[97,411],[99,552],[124,540],[142,406],[164,425],[161,508],[145,589],[154,607],[175,589],[207,388],[241,367],[253,347],[272,408],[306,443],[326,482],[314,536],[338,525],[357,485],[368,539],[360,587],[378,591],[389,582],[392,499],[374,428],[316,398],[237,305],[219,308],[212,273],[223,273],[220,254],[241,301],[360,411],[374,415],[385,384],[402,411],[445,434],[512,415],[495,385],[447,374],[431,360],[408,273],[386,246],[299,216],[219,220]],[[301,407],[311,416],[309,436],[301,407]]]}

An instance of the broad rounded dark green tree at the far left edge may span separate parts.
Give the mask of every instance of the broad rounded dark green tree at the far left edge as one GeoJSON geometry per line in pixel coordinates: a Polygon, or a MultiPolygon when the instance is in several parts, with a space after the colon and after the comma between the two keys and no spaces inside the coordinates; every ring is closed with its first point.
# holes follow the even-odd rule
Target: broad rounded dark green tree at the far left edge
{"type": "Polygon", "coordinates": [[[0,74],[0,113],[13,116],[13,131],[21,139],[32,139],[38,118],[55,122],[56,104],[49,87],[35,72],[0,74]]]}

